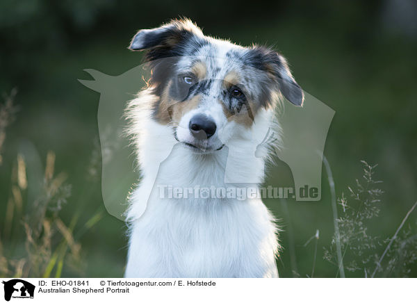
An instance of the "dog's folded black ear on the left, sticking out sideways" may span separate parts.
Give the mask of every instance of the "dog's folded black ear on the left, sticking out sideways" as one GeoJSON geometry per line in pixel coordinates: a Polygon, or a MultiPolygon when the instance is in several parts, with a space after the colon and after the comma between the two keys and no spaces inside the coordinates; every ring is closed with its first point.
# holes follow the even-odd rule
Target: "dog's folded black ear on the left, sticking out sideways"
{"type": "Polygon", "coordinates": [[[161,27],[138,31],[129,49],[147,51],[147,60],[180,56],[181,44],[202,35],[202,31],[189,19],[174,19],[161,27]]]}

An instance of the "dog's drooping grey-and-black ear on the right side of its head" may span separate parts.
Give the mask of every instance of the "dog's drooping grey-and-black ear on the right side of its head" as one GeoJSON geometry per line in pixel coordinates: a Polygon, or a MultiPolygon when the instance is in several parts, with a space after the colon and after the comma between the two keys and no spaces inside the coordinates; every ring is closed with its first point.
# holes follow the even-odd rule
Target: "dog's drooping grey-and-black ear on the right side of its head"
{"type": "Polygon", "coordinates": [[[288,67],[286,59],[276,51],[266,47],[254,47],[250,49],[250,63],[254,67],[263,70],[277,85],[279,92],[295,106],[302,106],[304,92],[295,82],[288,67]]]}

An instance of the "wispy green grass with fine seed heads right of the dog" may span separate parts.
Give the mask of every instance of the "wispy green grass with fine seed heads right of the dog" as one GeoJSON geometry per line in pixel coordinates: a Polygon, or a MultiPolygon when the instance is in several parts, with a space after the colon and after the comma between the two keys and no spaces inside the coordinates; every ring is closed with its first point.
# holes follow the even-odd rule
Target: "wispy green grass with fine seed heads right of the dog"
{"type": "MultiPolygon", "coordinates": [[[[357,179],[354,187],[348,187],[351,201],[348,201],[343,193],[338,199],[342,215],[337,216],[337,211],[334,211],[336,215],[334,236],[331,245],[324,248],[324,259],[338,265],[338,274],[341,277],[344,277],[344,268],[350,272],[363,272],[363,277],[377,277],[378,274],[381,277],[407,277],[410,271],[409,265],[417,260],[417,238],[413,231],[415,227],[410,226],[409,232],[403,236],[399,233],[409,215],[416,208],[417,202],[407,212],[391,238],[382,240],[379,236],[370,234],[368,222],[379,215],[382,203],[380,197],[384,192],[378,187],[382,181],[377,181],[374,177],[377,165],[369,165],[366,161],[361,161],[361,163],[363,164],[363,179],[361,181],[357,179]],[[384,243],[388,244],[379,256],[378,252],[384,243]],[[393,243],[398,243],[398,245],[393,248],[393,243]],[[386,256],[389,256],[389,261],[384,263],[386,256]],[[407,257],[404,258],[404,256],[407,257]],[[343,262],[346,263],[345,267],[343,262]],[[375,270],[372,271],[374,266],[375,270]],[[393,271],[393,269],[396,270],[393,271]]],[[[327,160],[325,160],[325,166],[327,172],[330,172],[327,160]]],[[[328,173],[328,177],[330,187],[334,191],[332,174],[328,173]]],[[[334,199],[332,206],[336,207],[334,199]]]]}

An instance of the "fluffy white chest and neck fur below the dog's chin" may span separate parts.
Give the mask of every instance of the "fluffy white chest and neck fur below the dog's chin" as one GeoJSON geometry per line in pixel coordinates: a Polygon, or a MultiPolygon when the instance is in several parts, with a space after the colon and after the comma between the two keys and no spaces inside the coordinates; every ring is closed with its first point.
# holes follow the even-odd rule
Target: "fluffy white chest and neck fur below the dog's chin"
{"type": "MultiPolygon", "coordinates": [[[[137,121],[133,131],[140,132],[136,145],[144,178],[130,198],[125,277],[277,277],[277,229],[261,199],[167,199],[158,188],[229,188],[233,185],[224,183],[224,174],[230,164],[228,174],[254,175],[261,182],[263,159],[245,158],[256,142],[236,138],[215,156],[193,155],[176,144],[168,127],[137,121]],[[233,161],[226,165],[230,153],[233,161]]],[[[261,141],[268,119],[254,125],[254,138],[261,141]]]]}

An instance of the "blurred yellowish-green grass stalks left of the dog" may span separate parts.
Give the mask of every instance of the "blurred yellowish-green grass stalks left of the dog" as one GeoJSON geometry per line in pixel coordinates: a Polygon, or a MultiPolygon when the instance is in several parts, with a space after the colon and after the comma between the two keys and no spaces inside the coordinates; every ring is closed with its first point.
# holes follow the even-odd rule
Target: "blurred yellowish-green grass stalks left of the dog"
{"type": "MultiPolygon", "coordinates": [[[[15,119],[16,90],[5,97],[0,108],[0,151],[6,138],[6,126],[15,119]]],[[[82,247],[79,240],[101,220],[102,210],[90,220],[79,224],[79,213],[74,213],[69,224],[60,218],[60,211],[72,195],[67,175],[55,172],[56,154],[46,156],[44,177],[38,197],[29,198],[31,184],[26,176],[24,155],[17,154],[10,176],[10,196],[3,227],[0,231],[0,277],[61,277],[63,268],[70,267],[83,275],[82,247]],[[24,253],[17,239],[24,237],[24,253]]],[[[0,163],[1,164],[1,163],[0,163]]],[[[38,181],[38,180],[35,180],[38,181]]]]}

